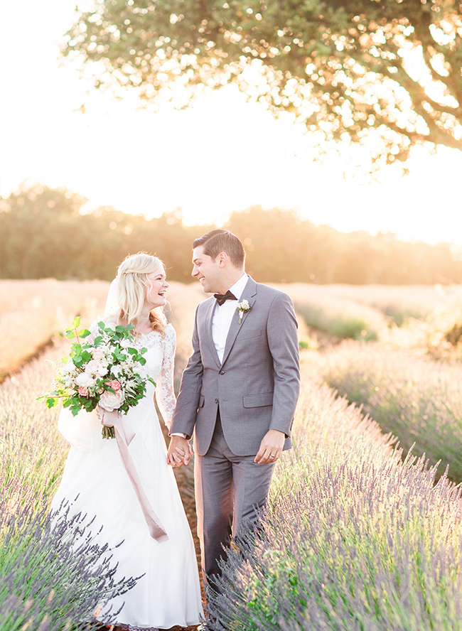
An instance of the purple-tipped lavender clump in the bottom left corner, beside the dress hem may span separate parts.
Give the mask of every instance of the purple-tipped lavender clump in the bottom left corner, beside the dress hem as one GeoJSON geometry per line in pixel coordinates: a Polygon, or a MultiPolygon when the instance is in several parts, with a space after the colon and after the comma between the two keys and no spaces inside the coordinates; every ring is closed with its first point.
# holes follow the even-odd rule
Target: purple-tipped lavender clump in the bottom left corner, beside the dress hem
{"type": "Polygon", "coordinates": [[[52,521],[46,506],[12,515],[3,499],[0,516],[0,631],[90,629],[100,603],[136,582],[114,581],[111,551],[95,545],[84,517],[52,521]]]}

